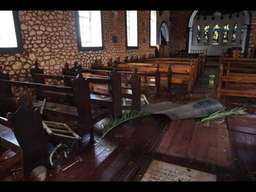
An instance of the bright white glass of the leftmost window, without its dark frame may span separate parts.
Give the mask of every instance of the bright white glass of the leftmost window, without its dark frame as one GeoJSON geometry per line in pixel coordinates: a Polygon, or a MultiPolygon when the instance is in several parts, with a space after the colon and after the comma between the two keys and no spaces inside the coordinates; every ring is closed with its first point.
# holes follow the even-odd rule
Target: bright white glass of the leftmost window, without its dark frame
{"type": "Polygon", "coordinates": [[[18,47],[12,11],[0,11],[0,47],[18,47]]]}

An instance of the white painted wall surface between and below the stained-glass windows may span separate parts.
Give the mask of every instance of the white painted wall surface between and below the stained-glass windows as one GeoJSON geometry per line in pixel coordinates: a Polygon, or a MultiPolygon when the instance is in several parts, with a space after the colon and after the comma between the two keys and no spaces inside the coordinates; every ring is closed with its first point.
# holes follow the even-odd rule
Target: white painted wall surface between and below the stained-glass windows
{"type": "MultiPolygon", "coordinates": [[[[196,14],[197,11],[194,13],[196,14]]],[[[206,19],[204,20],[204,16],[200,16],[200,19],[197,19],[197,16],[195,14],[192,14],[191,18],[194,17],[193,20],[190,20],[190,38],[189,38],[189,52],[190,50],[206,50],[210,56],[219,56],[224,50],[227,50],[227,48],[232,48],[232,47],[242,47],[242,53],[244,51],[244,46],[245,46],[245,39],[246,39],[246,34],[247,34],[247,12],[245,12],[245,16],[242,14],[243,12],[240,12],[240,17],[238,18],[236,16],[237,13],[232,14],[232,19],[229,18],[229,14],[224,14],[224,18],[221,20],[220,16],[215,17],[214,20],[211,19],[212,16],[207,16],[206,19]],[[233,27],[234,24],[238,23],[237,26],[237,36],[236,36],[236,42],[235,45],[232,44],[232,34],[233,34],[233,27]],[[196,45],[196,34],[197,34],[197,26],[198,24],[201,25],[201,34],[200,34],[200,45],[196,45]],[[210,34],[209,34],[209,43],[208,45],[203,44],[203,39],[204,39],[204,27],[206,24],[210,25],[210,34]],[[212,45],[212,40],[213,40],[213,28],[215,24],[220,25],[220,33],[219,33],[219,45],[212,45]],[[223,26],[225,24],[229,24],[229,37],[228,37],[228,44],[227,45],[222,45],[222,38],[223,38],[223,26]],[[240,38],[241,38],[241,29],[242,26],[244,27],[243,31],[243,41],[240,43],[240,38]]]]}

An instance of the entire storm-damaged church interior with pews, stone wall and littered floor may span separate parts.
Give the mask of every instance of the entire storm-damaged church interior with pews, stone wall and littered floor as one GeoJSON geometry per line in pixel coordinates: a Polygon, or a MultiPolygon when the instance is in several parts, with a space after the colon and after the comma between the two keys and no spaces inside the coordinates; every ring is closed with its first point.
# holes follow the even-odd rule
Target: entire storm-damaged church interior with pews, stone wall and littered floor
{"type": "Polygon", "coordinates": [[[256,11],[0,24],[0,181],[256,181],[256,11]]]}

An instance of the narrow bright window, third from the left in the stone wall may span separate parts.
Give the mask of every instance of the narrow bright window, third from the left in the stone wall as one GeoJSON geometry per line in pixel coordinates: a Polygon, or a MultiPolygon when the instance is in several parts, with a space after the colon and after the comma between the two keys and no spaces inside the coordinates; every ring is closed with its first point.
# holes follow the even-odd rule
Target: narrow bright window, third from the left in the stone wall
{"type": "Polygon", "coordinates": [[[137,11],[126,11],[127,48],[138,46],[137,11]]]}

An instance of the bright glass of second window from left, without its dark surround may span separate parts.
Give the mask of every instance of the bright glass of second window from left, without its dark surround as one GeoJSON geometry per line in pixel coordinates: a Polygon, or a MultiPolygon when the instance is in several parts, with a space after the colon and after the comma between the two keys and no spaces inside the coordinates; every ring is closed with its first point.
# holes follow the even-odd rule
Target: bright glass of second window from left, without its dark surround
{"type": "Polygon", "coordinates": [[[102,47],[101,11],[78,11],[82,47],[102,47]]]}

